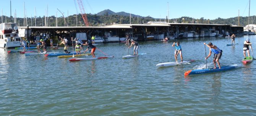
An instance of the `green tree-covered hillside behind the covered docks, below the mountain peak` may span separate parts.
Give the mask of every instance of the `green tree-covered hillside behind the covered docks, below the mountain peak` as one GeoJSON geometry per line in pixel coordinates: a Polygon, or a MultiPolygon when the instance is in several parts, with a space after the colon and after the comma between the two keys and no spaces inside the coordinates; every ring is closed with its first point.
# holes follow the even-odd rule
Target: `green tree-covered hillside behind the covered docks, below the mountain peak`
{"type": "MultiPolygon", "coordinates": [[[[252,18],[255,16],[250,16],[250,22],[249,24],[255,24],[254,23],[254,18],[252,18]]],[[[14,22],[14,18],[10,18],[8,16],[3,16],[2,18],[2,23],[3,22],[14,22]],[[6,19],[6,20],[5,20],[6,19]]],[[[147,23],[149,21],[165,21],[167,22],[167,18],[166,19],[156,19],[150,16],[147,17],[131,17],[130,16],[122,16],[122,15],[108,15],[108,14],[104,14],[104,15],[96,15],[96,14],[87,14],[87,19],[90,23],[89,26],[99,26],[100,24],[144,24],[147,23]],[[131,22],[130,22],[131,20],[131,22]]],[[[81,16],[81,14],[78,15],[71,15],[68,17],[65,17],[65,20],[67,22],[66,26],[85,26],[84,25],[84,21],[83,18],[81,16]]],[[[57,25],[56,25],[56,17],[55,16],[49,16],[49,17],[36,17],[36,21],[35,18],[32,17],[27,17],[27,18],[16,18],[16,23],[18,24],[18,26],[45,26],[45,22],[46,22],[46,26],[47,27],[55,27],[55,26],[59,26],[59,27],[64,27],[65,23],[64,23],[64,19],[63,17],[58,17],[57,18],[57,25]],[[25,22],[24,22],[25,21],[25,22]],[[35,24],[36,22],[36,24],[35,24]]],[[[214,20],[209,20],[209,19],[204,19],[204,17],[201,17],[200,19],[193,19],[191,17],[180,17],[177,19],[169,19],[169,22],[176,22],[176,23],[198,23],[198,24],[231,24],[231,25],[238,25],[238,17],[232,17],[232,18],[228,18],[228,19],[222,19],[222,18],[217,18],[214,20]]],[[[239,26],[245,26],[248,25],[248,17],[239,17],[239,26]]]]}

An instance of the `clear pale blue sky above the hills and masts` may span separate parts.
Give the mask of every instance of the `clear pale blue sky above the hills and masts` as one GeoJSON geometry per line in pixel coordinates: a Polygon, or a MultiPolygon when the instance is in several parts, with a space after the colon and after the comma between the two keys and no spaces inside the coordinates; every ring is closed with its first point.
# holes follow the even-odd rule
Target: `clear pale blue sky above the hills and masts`
{"type": "MultiPolygon", "coordinates": [[[[77,0],[75,0],[77,5],[77,0]]],[[[48,16],[60,17],[62,14],[57,8],[64,13],[64,16],[76,14],[74,0],[1,0],[0,12],[6,16],[14,16],[15,10],[17,17],[24,17],[24,3],[27,17],[36,15],[44,16],[48,5],[48,16]]],[[[238,16],[248,16],[249,0],[82,0],[86,13],[96,14],[103,10],[113,12],[124,11],[140,16],[151,16],[154,18],[179,18],[182,16],[199,19],[217,19],[230,18],[238,16]]],[[[256,0],[251,0],[250,16],[256,15],[256,0]]],[[[77,5],[78,13],[81,13],[77,5]]]]}

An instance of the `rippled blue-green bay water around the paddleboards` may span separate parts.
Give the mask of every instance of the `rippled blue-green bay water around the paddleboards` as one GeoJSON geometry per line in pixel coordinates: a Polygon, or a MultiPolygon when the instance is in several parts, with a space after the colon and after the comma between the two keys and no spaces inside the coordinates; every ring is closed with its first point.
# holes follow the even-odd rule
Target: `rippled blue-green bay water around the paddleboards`
{"type": "MultiPolygon", "coordinates": [[[[156,64],[175,62],[171,46],[175,40],[139,41],[139,53],[147,54],[130,59],[122,59],[128,54],[123,43],[98,44],[97,48],[115,57],[80,62],[0,49],[0,115],[253,116],[255,62],[226,72],[184,77],[187,70],[204,66],[204,42],[223,50],[221,65],[242,65],[243,42],[248,37],[255,48],[254,35],[237,37],[235,46],[225,45],[231,43],[228,38],[178,40],[183,60],[196,62],[166,68],[156,64]]],[[[104,54],[96,50],[96,56],[104,54]]],[[[207,60],[209,67],[213,67],[212,57],[207,60]]]]}

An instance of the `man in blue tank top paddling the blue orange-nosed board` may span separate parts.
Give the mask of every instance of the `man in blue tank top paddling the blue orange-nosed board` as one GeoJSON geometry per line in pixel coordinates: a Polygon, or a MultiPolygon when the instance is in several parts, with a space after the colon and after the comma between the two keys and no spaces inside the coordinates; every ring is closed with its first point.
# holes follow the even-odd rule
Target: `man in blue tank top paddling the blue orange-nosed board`
{"type": "Polygon", "coordinates": [[[213,57],[213,64],[214,64],[214,68],[213,69],[216,69],[216,62],[220,68],[220,62],[219,62],[219,59],[220,57],[222,56],[222,50],[220,50],[217,46],[213,45],[211,42],[206,44],[204,43],[208,48],[209,48],[209,54],[208,56],[205,58],[207,59],[208,57],[211,56],[212,52],[214,52],[214,57],[213,57]]]}

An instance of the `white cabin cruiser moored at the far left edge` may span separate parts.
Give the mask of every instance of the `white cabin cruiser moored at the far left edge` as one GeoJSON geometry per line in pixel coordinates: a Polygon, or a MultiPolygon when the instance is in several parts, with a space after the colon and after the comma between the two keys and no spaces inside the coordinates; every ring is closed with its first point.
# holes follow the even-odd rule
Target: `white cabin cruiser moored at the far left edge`
{"type": "Polygon", "coordinates": [[[21,37],[16,23],[2,23],[0,29],[0,48],[20,47],[21,37]]]}

